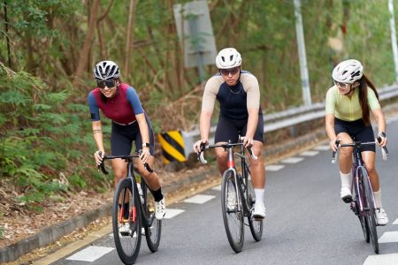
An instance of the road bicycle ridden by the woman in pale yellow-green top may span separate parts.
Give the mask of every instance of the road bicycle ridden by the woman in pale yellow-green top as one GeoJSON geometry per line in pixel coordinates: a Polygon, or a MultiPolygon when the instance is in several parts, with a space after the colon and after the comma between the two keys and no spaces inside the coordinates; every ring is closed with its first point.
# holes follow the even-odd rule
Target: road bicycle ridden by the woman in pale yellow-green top
{"type": "MultiPolygon", "coordinates": [[[[378,139],[379,141],[381,139],[378,139]]],[[[364,239],[367,243],[371,241],[375,254],[379,254],[379,240],[376,226],[376,204],[374,202],[373,190],[371,189],[371,180],[368,171],[364,166],[364,160],[361,155],[361,147],[375,145],[374,141],[341,144],[340,140],[336,140],[336,145],[339,148],[350,147],[353,150],[352,159],[352,201],[350,201],[350,208],[358,216],[361,223],[362,231],[364,232],[364,239]]],[[[388,150],[386,147],[382,149],[383,159],[386,160],[388,150]]],[[[336,152],[333,152],[332,163],[336,161],[336,152]]],[[[348,201],[349,202],[349,201],[348,201]]]]}

